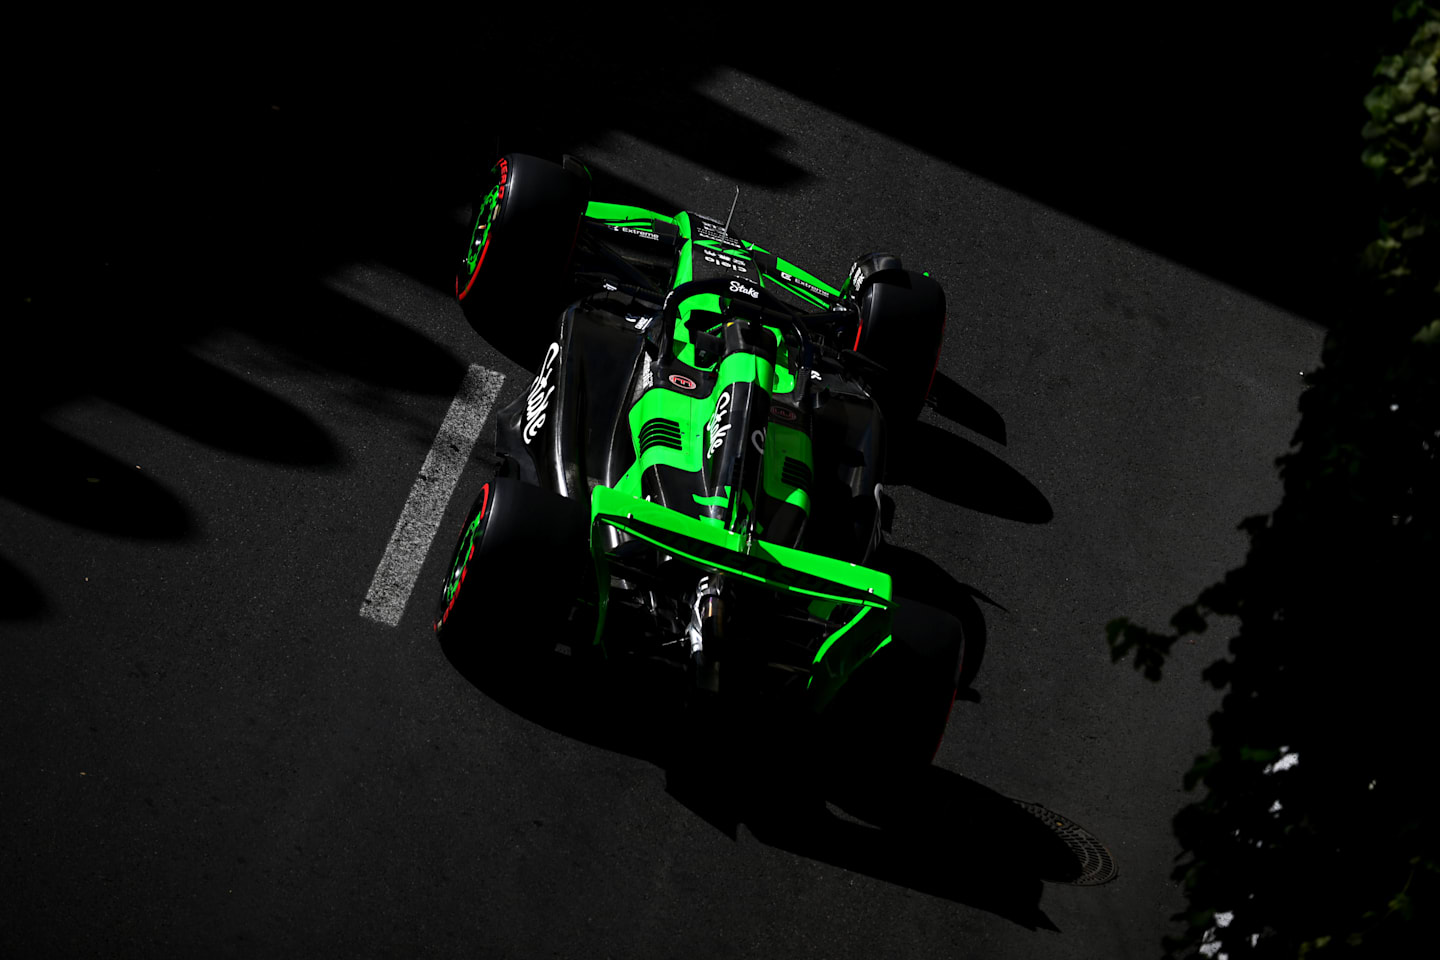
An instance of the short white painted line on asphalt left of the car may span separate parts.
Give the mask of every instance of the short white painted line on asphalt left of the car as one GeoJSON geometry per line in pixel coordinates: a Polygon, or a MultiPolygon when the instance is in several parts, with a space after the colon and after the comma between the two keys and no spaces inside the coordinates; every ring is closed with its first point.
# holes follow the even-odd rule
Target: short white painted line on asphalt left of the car
{"type": "Polygon", "coordinates": [[[405,501],[405,510],[400,511],[400,520],[395,524],[390,545],[380,557],[370,590],[360,604],[360,616],[387,626],[400,622],[405,604],[415,589],[415,580],[425,564],[425,554],[429,553],[431,541],[435,540],[435,531],[441,525],[441,517],[445,515],[455,484],[469,459],[469,450],[480,436],[480,427],[485,423],[490,406],[500,396],[504,381],[504,374],[478,364],[465,371],[459,393],[455,394],[439,433],[435,435],[431,453],[425,458],[420,475],[415,478],[410,497],[405,501]]]}

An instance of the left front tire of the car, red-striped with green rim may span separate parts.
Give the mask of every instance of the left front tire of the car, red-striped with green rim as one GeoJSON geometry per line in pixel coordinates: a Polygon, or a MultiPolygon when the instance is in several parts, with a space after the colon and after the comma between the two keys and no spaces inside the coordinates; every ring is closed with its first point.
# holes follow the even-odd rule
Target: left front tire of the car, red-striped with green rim
{"type": "Polygon", "coordinates": [[[526,154],[495,161],[455,272],[455,296],[478,332],[517,308],[553,312],[569,301],[564,281],[589,190],[579,164],[567,168],[526,154]]]}

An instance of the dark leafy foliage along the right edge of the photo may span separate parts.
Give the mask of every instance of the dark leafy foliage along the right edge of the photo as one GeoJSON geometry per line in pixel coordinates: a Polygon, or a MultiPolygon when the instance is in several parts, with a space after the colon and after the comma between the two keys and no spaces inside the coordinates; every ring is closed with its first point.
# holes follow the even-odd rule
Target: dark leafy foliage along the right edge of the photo
{"type": "MultiPolygon", "coordinates": [[[[1112,656],[1159,679],[1179,638],[1236,623],[1225,691],[1175,819],[1185,933],[1171,954],[1420,956],[1440,891],[1426,803],[1440,685],[1440,10],[1395,9],[1398,53],[1364,96],[1375,235],[1279,461],[1283,498],[1241,524],[1244,566],[1171,619],[1115,620],[1112,656]]],[[[1356,91],[1356,99],[1359,91],[1356,91]]],[[[1342,119],[1342,118],[1339,118],[1342,119]]]]}

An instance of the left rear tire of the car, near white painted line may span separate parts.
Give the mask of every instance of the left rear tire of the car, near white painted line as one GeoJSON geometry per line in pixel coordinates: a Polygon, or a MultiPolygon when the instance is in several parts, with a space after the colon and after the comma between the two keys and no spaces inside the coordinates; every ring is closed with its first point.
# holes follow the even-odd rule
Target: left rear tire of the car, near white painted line
{"type": "Polygon", "coordinates": [[[513,476],[481,486],[432,620],[451,661],[533,665],[583,632],[589,520],[585,504],[513,476]]]}

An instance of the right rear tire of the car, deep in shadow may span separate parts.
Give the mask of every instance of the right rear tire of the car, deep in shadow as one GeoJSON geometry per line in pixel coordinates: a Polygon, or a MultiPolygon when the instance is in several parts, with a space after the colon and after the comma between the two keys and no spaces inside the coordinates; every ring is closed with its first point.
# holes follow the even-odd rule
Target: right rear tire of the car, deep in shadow
{"type": "Polygon", "coordinates": [[[845,681],[821,718],[821,753],[837,773],[907,776],[935,759],[965,658],[953,616],[897,599],[893,639],[845,681]]]}

